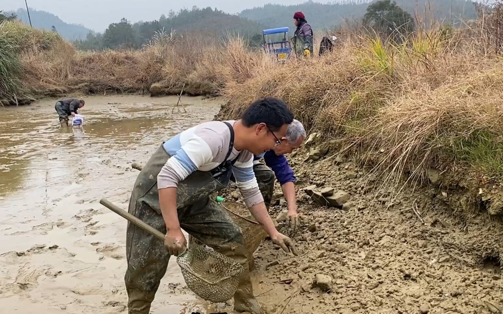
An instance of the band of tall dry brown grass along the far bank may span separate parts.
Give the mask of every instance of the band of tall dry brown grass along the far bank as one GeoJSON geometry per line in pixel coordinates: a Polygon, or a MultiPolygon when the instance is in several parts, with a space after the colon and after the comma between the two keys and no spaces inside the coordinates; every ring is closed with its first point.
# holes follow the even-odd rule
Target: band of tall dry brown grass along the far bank
{"type": "MultiPolygon", "coordinates": [[[[159,95],[182,89],[189,94],[212,95],[228,77],[236,77],[229,58],[246,62],[242,60],[254,54],[239,37],[222,41],[205,34],[179,36],[164,31],[156,33],[140,50],[82,52],[53,32],[30,33],[30,28],[18,22],[4,23],[2,27],[0,39],[18,43],[11,49],[9,62],[2,58],[0,68],[0,82],[10,86],[0,92],[0,99],[9,100],[73,92],[159,95]]],[[[10,48],[0,49],[4,54],[10,48]]]]}

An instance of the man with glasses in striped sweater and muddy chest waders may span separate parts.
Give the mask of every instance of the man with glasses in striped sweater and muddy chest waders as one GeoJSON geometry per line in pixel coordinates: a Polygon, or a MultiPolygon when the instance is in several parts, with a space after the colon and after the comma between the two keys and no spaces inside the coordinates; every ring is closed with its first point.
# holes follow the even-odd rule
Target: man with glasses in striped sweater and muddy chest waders
{"type": "Polygon", "coordinates": [[[252,103],[237,121],[212,121],[165,141],[136,178],[129,213],[165,233],[164,243],[128,224],[125,282],[129,314],[148,314],[171,255],[187,242],[182,228],[217,252],[239,262],[244,273],[234,293],[234,310],[261,313],[253,294],[240,228],[209,199],[231,174],[250,213],[285,252],[297,250],[267,213],[253,170],[255,155],[280,145],[293,116],[280,99],[252,103]]]}

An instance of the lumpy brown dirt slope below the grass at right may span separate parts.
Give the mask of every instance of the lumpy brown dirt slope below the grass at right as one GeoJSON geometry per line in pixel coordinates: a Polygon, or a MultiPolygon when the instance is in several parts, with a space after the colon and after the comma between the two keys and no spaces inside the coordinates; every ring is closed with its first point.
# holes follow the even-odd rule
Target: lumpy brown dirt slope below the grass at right
{"type": "MultiPolygon", "coordinates": [[[[255,254],[256,294],[271,311],[282,312],[285,305],[289,313],[465,314],[503,308],[503,224],[485,211],[453,208],[462,189],[389,188],[350,155],[318,159],[308,157],[309,151],[289,157],[303,228],[292,233],[279,224],[301,256],[273,250],[270,241],[255,254]],[[334,196],[318,197],[331,188],[334,196]]],[[[233,188],[225,195],[239,201],[233,188]]],[[[272,217],[283,210],[277,185],[272,217]]]]}

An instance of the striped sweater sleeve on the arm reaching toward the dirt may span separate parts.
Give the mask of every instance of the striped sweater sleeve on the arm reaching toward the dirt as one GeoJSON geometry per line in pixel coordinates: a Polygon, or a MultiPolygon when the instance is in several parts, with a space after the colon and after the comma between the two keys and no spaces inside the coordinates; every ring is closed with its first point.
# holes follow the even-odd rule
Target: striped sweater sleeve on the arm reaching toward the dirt
{"type": "Polygon", "coordinates": [[[253,154],[243,151],[232,167],[236,185],[248,208],[264,201],[253,171],[253,158],[253,154]]]}

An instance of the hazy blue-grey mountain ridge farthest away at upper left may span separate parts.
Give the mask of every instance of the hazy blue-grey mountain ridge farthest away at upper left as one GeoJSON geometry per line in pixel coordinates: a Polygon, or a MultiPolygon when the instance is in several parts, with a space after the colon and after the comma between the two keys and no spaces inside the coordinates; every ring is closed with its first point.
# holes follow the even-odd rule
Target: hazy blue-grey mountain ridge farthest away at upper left
{"type": "MultiPolygon", "coordinates": [[[[18,9],[17,11],[10,11],[6,13],[14,13],[18,16],[18,19],[26,24],[30,24],[28,19],[28,14],[26,9],[18,9]]],[[[86,39],[91,30],[83,25],[77,25],[72,23],[63,22],[59,17],[52,13],[45,11],[37,11],[30,8],[30,18],[33,27],[42,28],[50,31],[52,27],[66,40],[72,41],[77,39],[86,39]]],[[[71,17],[68,18],[69,20],[71,17]]],[[[68,21],[71,22],[71,21],[68,21]]]]}

